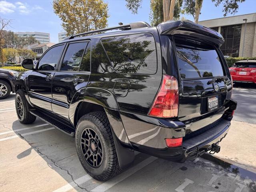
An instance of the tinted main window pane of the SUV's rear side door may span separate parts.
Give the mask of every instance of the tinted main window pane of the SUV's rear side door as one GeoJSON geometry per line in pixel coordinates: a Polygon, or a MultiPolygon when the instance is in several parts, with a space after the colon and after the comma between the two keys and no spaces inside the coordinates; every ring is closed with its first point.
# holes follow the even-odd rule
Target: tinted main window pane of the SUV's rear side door
{"type": "Polygon", "coordinates": [[[61,71],[78,71],[84,49],[88,42],[72,43],[68,45],[63,62],[61,64],[61,71]]]}

